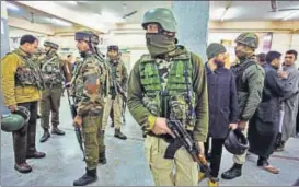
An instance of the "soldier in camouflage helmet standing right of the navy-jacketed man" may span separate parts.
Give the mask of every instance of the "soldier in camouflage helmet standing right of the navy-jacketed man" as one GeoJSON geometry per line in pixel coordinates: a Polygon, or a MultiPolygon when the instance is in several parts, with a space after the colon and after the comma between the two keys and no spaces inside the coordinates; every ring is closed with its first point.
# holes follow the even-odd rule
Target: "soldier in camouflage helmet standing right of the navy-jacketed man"
{"type": "MultiPolygon", "coordinates": [[[[254,50],[258,47],[258,37],[254,33],[242,33],[235,39],[235,56],[239,61],[231,67],[235,75],[237,95],[239,103],[238,126],[248,136],[248,122],[257,109],[264,87],[265,72],[257,63],[254,50]]],[[[242,165],[246,152],[233,156],[233,166],[225,172],[221,177],[232,179],[242,175],[242,165]]]]}

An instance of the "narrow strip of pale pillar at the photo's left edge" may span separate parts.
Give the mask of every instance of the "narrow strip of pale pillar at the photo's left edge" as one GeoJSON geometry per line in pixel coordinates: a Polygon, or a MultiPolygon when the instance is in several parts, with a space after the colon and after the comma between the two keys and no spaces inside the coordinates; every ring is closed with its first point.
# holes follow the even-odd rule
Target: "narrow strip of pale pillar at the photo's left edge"
{"type": "MultiPolygon", "coordinates": [[[[9,25],[8,25],[8,11],[7,11],[7,2],[1,1],[1,59],[5,56],[7,52],[10,51],[10,43],[9,43],[9,25]]],[[[0,67],[1,69],[1,67],[0,67]]],[[[0,81],[0,86],[1,81],[0,81]]],[[[1,115],[2,113],[7,113],[7,107],[3,106],[3,97],[2,92],[0,95],[0,108],[1,115]]]]}

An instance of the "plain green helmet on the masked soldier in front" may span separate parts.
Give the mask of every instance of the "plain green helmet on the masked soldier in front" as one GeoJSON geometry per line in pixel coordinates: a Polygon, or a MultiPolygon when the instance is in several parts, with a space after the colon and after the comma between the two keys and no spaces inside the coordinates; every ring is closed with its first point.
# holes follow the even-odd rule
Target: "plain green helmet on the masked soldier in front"
{"type": "Polygon", "coordinates": [[[175,17],[169,9],[157,8],[146,12],[142,21],[142,27],[146,30],[147,24],[159,23],[168,32],[176,32],[175,17]]]}

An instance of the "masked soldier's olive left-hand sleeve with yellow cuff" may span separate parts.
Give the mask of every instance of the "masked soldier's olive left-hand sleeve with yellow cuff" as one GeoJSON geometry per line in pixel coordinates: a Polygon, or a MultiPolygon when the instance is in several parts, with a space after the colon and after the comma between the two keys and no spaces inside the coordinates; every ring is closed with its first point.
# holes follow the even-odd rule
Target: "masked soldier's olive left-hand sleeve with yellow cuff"
{"type": "Polygon", "coordinates": [[[127,105],[135,120],[143,130],[149,131],[152,129],[157,117],[153,116],[142,104],[143,91],[140,81],[139,63],[140,60],[135,63],[129,74],[127,105]]]}

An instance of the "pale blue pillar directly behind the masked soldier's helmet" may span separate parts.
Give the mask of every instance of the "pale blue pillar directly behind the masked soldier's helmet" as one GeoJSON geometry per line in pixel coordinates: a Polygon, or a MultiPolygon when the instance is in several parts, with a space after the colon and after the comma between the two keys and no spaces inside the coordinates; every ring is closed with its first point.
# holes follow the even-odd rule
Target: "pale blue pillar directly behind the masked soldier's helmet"
{"type": "Polygon", "coordinates": [[[209,1],[172,1],[172,11],[177,22],[179,44],[206,61],[209,1]]]}

